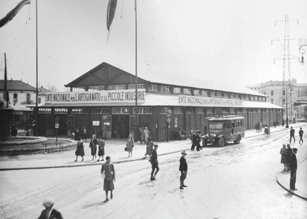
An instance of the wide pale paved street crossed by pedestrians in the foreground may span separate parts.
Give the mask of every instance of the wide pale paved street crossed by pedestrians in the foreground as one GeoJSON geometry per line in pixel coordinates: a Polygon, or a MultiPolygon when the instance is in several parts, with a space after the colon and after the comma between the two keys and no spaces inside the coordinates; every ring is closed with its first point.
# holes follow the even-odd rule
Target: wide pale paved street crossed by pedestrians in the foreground
{"type": "MultiPolygon", "coordinates": [[[[105,194],[97,165],[3,171],[0,215],[38,217],[42,200],[51,197],[64,218],[306,218],[307,202],[276,183],[283,168],[279,150],[288,132],[188,151],[184,190],[179,189],[180,153],[158,157],[160,172],[154,182],[149,181],[148,160],[115,164],[114,199],[108,203],[102,202],[105,194]]],[[[298,148],[298,163],[307,157],[305,142],[307,138],[302,145],[292,143],[298,148]]],[[[300,177],[305,176],[298,175],[297,180],[300,177]]]]}

